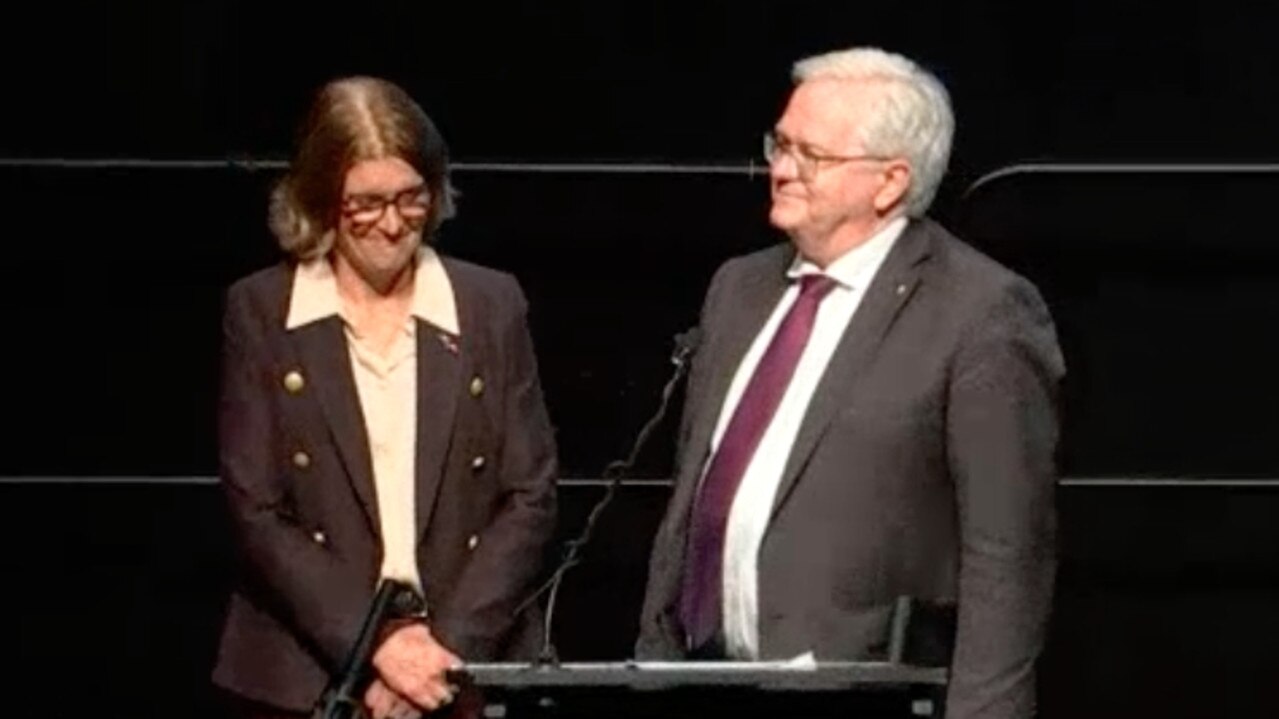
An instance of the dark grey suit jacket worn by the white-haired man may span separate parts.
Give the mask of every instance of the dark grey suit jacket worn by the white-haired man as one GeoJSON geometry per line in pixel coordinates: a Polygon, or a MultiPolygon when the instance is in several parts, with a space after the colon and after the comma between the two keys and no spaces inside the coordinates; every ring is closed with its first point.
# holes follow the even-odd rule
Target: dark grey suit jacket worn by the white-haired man
{"type": "MultiPolygon", "coordinates": [[[[729,383],[787,288],[788,243],[720,267],[636,647],[684,655],[691,508],[729,383]]],[[[758,554],[762,659],[883,659],[894,600],[929,612],[948,716],[1027,716],[1055,572],[1051,319],[1024,279],[911,221],[821,377],[758,554]],[[940,624],[940,631],[938,629],[940,624]]],[[[927,644],[930,637],[920,638],[927,644]]]]}

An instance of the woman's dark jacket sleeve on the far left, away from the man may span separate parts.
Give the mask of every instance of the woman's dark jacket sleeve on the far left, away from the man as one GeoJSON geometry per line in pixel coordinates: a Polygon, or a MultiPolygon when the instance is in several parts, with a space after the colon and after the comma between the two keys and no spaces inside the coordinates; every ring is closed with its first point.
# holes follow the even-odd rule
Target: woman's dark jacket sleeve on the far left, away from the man
{"type": "Polygon", "coordinates": [[[276,454],[284,446],[271,393],[283,391],[252,328],[244,293],[228,294],[219,402],[220,478],[239,571],[256,604],[289,627],[330,670],[345,659],[372,600],[367,578],[315,542],[292,510],[276,454]]]}

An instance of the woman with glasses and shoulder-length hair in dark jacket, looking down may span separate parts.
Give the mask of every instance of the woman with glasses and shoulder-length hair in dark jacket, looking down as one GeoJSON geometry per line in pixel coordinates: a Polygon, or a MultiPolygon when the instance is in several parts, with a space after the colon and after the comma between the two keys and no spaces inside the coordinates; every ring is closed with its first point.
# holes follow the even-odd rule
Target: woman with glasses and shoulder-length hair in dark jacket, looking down
{"type": "Polygon", "coordinates": [[[441,257],[448,150],[399,87],[322,88],[270,224],[289,260],[226,297],[221,484],[240,571],[214,681],[306,715],[380,578],[421,589],[377,646],[375,716],[451,700],[460,660],[532,656],[555,446],[523,293],[441,257]]]}

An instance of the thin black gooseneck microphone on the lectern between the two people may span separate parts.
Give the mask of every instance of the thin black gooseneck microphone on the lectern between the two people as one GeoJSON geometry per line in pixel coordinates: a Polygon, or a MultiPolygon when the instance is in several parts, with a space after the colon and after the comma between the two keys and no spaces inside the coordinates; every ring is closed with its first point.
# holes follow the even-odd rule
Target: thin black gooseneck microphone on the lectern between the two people
{"type": "Polygon", "coordinates": [[[581,553],[582,548],[591,541],[591,533],[595,531],[595,523],[599,521],[600,514],[604,508],[609,505],[613,500],[613,495],[616,494],[618,487],[622,485],[622,478],[627,472],[634,466],[636,459],[640,457],[640,452],[643,449],[645,444],[648,441],[648,435],[657,427],[663,417],[666,416],[666,406],[670,403],[670,397],[675,393],[675,386],[679,380],[683,379],[684,374],[688,371],[688,361],[692,360],[693,354],[697,352],[697,347],[701,344],[701,329],[697,326],[689,328],[675,335],[675,349],[671,352],[670,362],[675,366],[675,371],[671,372],[670,379],[666,380],[666,385],[661,389],[661,403],[657,406],[657,412],[643,425],[640,434],[636,436],[634,444],[631,446],[631,453],[627,454],[625,459],[616,459],[609,463],[604,470],[604,478],[609,480],[609,486],[604,491],[604,496],[595,503],[591,508],[591,513],[586,517],[586,525],[582,527],[582,533],[568,541],[564,545],[564,559],[560,560],[555,572],[551,573],[537,591],[535,591],[528,599],[515,608],[515,615],[518,617],[521,612],[527,609],[532,603],[537,601],[540,596],[550,592],[546,600],[546,618],[542,626],[542,649],[537,656],[538,664],[558,664],[559,658],[555,654],[555,646],[551,642],[551,626],[555,619],[555,599],[559,595],[560,582],[564,581],[564,574],[569,569],[576,567],[582,562],[581,553]]]}

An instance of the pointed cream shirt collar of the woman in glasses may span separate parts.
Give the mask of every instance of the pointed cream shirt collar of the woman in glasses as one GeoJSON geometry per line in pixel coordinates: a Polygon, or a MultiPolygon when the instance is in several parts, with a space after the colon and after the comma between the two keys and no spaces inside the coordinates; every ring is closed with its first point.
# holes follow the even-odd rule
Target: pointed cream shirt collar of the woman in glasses
{"type": "MultiPolygon", "coordinates": [[[[449,281],[449,274],[444,270],[439,253],[430,247],[422,247],[417,252],[413,304],[409,311],[449,334],[462,334],[453,283],[449,281]]],[[[289,315],[284,329],[295,330],[334,315],[341,316],[341,297],[338,294],[338,278],[329,258],[317,257],[299,262],[293,274],[289,315]]]]}

